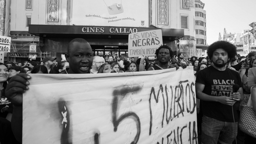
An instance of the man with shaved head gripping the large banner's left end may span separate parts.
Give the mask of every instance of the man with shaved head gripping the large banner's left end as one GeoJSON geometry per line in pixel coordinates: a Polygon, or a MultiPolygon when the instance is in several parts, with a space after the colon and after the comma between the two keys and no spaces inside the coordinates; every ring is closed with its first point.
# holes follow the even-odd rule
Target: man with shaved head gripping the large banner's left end
{"type": "MultiPolygon", "coordinates": [[[[68,44],[68,53],[65,54],[69,68],[65,74],[89,74],[92,67],[92,48],[82,39],[73,39],[68,44]]],[[[13,104],[12,131],[15,138],[22,142],[22,93],[28,90],[31,78],[28,74],[20,73],[13,76],[6,87],[5,95],[13,104]]]]}

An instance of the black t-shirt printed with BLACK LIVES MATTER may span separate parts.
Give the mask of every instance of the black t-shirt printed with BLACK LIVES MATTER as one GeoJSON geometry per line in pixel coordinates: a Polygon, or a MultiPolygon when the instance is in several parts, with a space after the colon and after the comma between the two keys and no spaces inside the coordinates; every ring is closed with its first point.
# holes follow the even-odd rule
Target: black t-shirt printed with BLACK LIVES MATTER
{"type": "MultiPolygon", "coordinates": [[[[196,76],[196,83],[204,84],[203,93],[211,96],[228,96],[233,92],[232,86],[238,84],[242,87],[242,81],[237,71],[226,68],[224,71],[209,66],[200,70],[196,76]]],[[[202,101],[202,112],[205,116],[223,122],[233,122],[231,106],[215,101],[202,101]]],[[[235,121],[238,121],[236,106],[233,105],[235,121]]]]}

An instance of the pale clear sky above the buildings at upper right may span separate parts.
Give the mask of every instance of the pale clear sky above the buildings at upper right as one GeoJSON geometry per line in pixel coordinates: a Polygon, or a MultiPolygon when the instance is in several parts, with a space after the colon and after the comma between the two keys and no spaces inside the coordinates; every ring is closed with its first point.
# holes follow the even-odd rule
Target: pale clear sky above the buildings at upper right
{"type": "Polygon", "coordinates": [[[255,0],[201,0],[206,11],[206,43],[218,40],[224,28],[227,33],[241,33],[256,22],[255,0]]]}

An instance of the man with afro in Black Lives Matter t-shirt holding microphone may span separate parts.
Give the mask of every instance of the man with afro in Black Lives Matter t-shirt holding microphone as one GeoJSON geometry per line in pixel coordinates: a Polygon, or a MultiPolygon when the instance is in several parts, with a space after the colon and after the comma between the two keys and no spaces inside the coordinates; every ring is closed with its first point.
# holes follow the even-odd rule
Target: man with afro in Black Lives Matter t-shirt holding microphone
{"type": "Polygon", "coordinates": [[[226,68],[225,64],[235,57],[236,47],[226,41],[217,41],[208,47],[207,54],[213,65],[199,71],[196,76],[196,97],[202,102],[204,115],[202,143],[232,144],[236,138],[238,121],[234,104],[244,100],[244,96],[238,72],[226,68]],[[240,88],[238,92],[232,93],[234,84],[240,88]]]}

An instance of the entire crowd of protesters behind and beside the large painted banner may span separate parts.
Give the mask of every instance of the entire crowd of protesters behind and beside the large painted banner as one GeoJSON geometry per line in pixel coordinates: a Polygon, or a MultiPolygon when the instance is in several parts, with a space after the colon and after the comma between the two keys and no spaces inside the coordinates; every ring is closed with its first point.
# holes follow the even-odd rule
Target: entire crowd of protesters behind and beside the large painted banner
{"type": "MultiPolygon", "coordinates": [[[[250,94],[251,88],[256,85],[256,52],[240,56],[236,54],[233,44],[218,41],[209,46],[207,53],[206,58],[192,56],[185,60],[183,53],[180,52],[176,56],[170,47],[162,45],[156,50],[157,59],[153,61],[149,61],[144,55],[135,61],[134,58],[127,56],[103,58],[93,56],[90,44],[84,39],[76,38],[68,44],[68,52],[65,54],[67,61],[57,63],[56,58],[46,56],[40,62],[28,60],[23,63],[0,63],[1,101],[7,101],[6,104],[1,105],[4,111],[0,113],[0,124],[5,127],[0,129],[3,134],[0,140],[4,140],[5,143],[19,143],[22,140],[22,93],[29,89],[27,80],[31,78],[28,75],[30,73],[122,73],[193,66],[196,81],[197,126],[198,134],[202,135],[202,142],[232,143],[239,131],[237,128],[239,103],[244,100],[243,94],[250,94]],[[224,83],[235,81],[240,89],[236,93],[227,92],[225,95],[220,92],[218,97],[212,97],[214,96],[211,93],[212,84],[218,81],[220,83],[220,80],[224,80],[224,83]],[[236,129],[233,125],[231,106],[234,108],[236,129]],[[225,125],[227,123],[228,126],[225,125]]],[[[221,85],[224,85],[223,81],[221,85]]],[[[256,113],[255,93],[256,89],[253,88],[251,101],[248,104],[250,103],[256,113]]],[[[255,142],[256,139],[246,135],[245,143],[251,141],[255,142]]]]}

